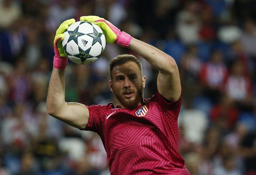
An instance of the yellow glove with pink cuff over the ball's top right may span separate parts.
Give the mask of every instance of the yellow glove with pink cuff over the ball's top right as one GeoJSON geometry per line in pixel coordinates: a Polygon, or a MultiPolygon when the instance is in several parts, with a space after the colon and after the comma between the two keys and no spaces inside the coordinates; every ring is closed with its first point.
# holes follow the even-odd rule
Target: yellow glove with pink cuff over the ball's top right
{"type": "Polygon", "coordinates": [[[128,47],[133,38],[130,34],[124,31],[121,32],[116,26],[99,16],[81,16],[80,21],[92,22],[98,25],[102,29],[107,43],[117,43],[122,47],[128,47]]]}

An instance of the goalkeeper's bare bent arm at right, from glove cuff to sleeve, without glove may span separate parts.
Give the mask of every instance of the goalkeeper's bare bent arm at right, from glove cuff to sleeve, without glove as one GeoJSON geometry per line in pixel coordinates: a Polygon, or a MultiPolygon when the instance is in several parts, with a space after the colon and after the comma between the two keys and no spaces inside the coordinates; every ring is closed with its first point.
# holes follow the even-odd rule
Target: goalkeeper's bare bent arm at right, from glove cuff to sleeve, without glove
{"type": "Polygon", "coordinates": [[[133,38],[129,48],[145,58],[159,71],[157,88],[159,93],[170,101],[176,101],[181,95],[180,76],[175,60],[159,49],[133,38]]]}

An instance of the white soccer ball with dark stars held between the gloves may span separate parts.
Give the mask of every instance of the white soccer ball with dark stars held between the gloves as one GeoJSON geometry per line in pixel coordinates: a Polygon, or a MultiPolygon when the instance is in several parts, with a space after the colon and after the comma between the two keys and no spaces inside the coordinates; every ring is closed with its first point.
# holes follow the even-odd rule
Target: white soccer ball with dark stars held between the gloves
{"type": "Polygon", "coordinates": [[[62,46],[67,57],[76,64],[98,60],[106,46],[105,36],[98,25],[78,21],[64,32],[62,46]]]}

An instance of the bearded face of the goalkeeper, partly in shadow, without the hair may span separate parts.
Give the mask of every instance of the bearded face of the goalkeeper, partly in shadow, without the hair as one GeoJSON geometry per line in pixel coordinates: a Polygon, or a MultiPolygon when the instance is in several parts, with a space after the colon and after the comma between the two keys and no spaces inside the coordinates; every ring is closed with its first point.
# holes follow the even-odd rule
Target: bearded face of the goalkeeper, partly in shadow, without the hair
{"type": "Polygon", "coordinates": [[[141,76],[139,66],[133,61],[114,66],[113,80],[109,81],[121,108],[134,109],[143,103],[143,88],[146,77],[141,76]]]}

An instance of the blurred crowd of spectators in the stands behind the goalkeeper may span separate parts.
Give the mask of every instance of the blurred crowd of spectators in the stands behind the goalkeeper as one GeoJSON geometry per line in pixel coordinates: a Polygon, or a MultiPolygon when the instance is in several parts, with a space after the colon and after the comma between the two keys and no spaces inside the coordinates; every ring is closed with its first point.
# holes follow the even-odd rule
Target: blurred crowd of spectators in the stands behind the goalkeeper
{"type": "MultiPolygon", "coordinates": [[[[180,70],[180,154],[191,175],[256,175],[256,0],[0,0],[0,175],[107,175],[96,133],[50,117],[46,96],[59,24],[98,15],[171,55],[180,70]]],[[[107,44],[69,61],[66,101],[118,104],[108,63],[134,54],[156,93],[157,70],[107,44]]]]}

